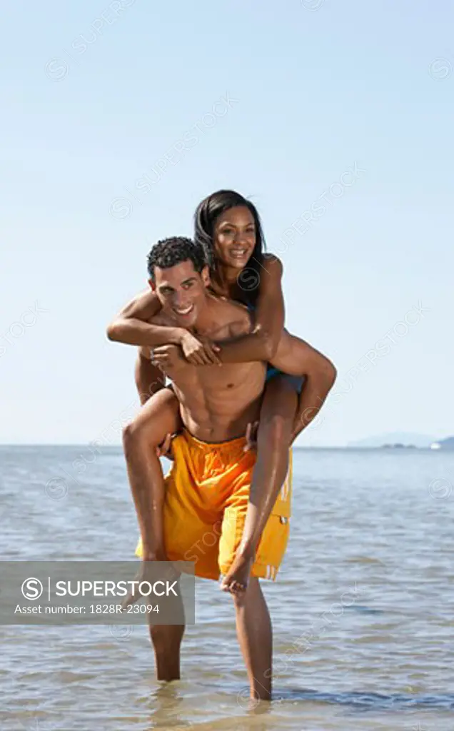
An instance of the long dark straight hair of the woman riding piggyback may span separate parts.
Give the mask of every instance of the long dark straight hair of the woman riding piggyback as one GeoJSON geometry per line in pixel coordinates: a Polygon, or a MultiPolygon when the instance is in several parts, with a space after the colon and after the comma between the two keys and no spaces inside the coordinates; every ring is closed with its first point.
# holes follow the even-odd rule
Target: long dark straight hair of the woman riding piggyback
{"type": "Polygon", "coordinates": [[[238,275],[238,286],[242,292],[242,299],[246,304],[255,305],[259,293],[260,268],[263,268],[263,253],[266,251],[260,216],[254,204],[234,190],[218,190],[208,195],[194,213],[194,240],[203,246],[205,256],[212,273],[218,270],[218,262],[214,254],[214,224],[218,216],[229,208],[243,205],[249,208],[254,217],[255,246],[246,267],[238,275]]]}

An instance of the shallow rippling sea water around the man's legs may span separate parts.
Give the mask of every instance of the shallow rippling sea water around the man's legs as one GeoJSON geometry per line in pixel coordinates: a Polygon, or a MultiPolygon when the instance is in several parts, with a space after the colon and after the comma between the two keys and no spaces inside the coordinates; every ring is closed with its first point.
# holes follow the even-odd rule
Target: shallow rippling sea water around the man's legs
{"type": "MultiPolygon", "coordinates": [[[[230,598],[199,580],[175,683],[155,680],[145,626],[0,626],[1,730],[453,731],[454,452],[294,466],[289,549],[262,582],[272,702],[248,709],[230,598]]],[[[0,467],[1,558],[132,558],[121,450],[0,447],[0,467]]]]}

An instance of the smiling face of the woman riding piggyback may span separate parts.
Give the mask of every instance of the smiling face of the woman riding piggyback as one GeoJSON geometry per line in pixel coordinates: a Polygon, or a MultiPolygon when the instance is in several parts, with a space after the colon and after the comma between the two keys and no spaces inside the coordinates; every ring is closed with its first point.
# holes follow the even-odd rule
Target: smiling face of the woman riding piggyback
{"type": "Polygon", "coordinates": [[[255,246],[255,224],[249,208],[237,205],[216,219],[214,253],[224,266],[243,269],[255,246]]]}

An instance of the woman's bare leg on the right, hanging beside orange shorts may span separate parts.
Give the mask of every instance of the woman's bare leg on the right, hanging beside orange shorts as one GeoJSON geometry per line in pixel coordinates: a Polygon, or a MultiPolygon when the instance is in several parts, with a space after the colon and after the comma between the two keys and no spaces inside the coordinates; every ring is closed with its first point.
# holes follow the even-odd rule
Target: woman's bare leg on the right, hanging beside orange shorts
{"type": "Polygon", "coordinates": [[[285,376],[275,376],[265,387],[257,433],[257,462],[252,474],[243,538],[221,583],[223,591],[247,585],[254,553],[289,467],[292,426],[298,393],[285,376]]]}

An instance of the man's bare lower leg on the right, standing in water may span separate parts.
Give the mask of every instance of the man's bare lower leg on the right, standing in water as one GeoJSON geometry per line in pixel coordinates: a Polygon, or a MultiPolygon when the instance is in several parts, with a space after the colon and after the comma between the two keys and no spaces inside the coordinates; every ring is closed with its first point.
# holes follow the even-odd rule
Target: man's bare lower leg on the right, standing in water
{"type": "Polygon", "coordinates": [[[251,698],[270,700],[273,631],[259,580],[249,579],[244,594],[234,596],[236,632],[249,678],[251,698]]]}

